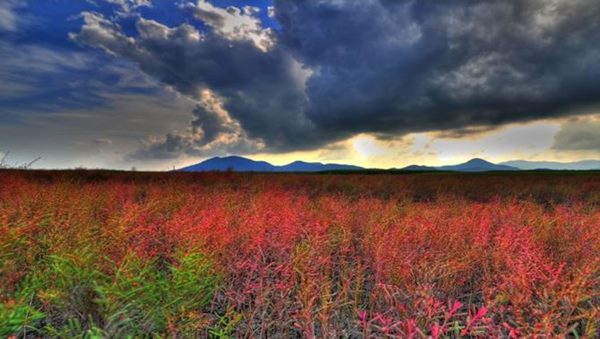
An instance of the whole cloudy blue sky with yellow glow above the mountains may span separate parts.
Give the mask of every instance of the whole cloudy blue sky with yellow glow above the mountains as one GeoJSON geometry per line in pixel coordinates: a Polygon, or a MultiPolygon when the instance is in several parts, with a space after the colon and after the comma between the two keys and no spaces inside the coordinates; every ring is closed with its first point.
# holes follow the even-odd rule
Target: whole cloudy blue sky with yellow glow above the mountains
{"type": "Polygon", "coordinates": [[[0,0],[0,158],[600,159],[597,0],[0,0]]]}

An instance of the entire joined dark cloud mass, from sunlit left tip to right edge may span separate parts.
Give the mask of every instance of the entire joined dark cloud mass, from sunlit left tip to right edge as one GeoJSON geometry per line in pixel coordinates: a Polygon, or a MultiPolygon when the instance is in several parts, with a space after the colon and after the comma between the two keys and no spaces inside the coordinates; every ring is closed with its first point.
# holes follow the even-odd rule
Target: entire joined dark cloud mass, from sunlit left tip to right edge
{"type": "MultiPolygon", "coordinates": [[[[183,7],[208,29],[140,18],[139,35],[127,36],[86,13],[73,39],[133,60],[185,95],[214,91],[240,138],[267,151],[362,132],[486,129],[600,101],[595,0],[276,0],[278,31],[251,10],[183,7]]],[[[162,146],[175,155],[216,141],[227,132],[214,114],[192,126],[204,137],[170,135],[162,146]]]]}

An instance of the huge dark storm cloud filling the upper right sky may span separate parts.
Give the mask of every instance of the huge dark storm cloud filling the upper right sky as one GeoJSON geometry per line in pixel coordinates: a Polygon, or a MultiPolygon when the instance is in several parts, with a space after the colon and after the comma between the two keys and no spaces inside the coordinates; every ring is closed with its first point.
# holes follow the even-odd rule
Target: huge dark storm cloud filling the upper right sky
{"type": "Polygon", "coordinates": [[[569,114],[600,100],[597,1],[276,1],[315,71],[307,117],[404,133],[569,114]]]}

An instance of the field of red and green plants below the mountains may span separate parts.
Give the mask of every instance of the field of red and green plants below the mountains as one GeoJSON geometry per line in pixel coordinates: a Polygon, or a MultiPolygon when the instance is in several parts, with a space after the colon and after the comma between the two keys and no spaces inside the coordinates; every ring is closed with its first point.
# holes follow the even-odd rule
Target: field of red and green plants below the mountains
{"type": "Polygon", "coordinates": [[[600,175],[0,172],[0,336],[598,337],[600,175]]]}

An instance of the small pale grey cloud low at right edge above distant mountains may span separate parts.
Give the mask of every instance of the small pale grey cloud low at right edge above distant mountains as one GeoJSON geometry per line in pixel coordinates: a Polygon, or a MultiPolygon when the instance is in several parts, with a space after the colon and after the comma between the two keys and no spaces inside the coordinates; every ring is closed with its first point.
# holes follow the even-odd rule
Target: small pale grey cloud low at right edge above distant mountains
{"type": "Polygon", "coordinates": [[[600,118],[574,119],[562,124],[552,148],[559,151],[600,152],[600,118]]]}

